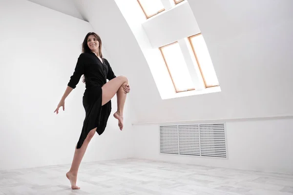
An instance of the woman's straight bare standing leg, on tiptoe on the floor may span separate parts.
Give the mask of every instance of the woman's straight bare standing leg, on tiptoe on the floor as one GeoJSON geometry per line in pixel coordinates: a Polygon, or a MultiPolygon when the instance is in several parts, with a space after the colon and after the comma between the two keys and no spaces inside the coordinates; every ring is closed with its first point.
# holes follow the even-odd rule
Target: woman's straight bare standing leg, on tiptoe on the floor
{"type": "Polygon", "coordinates": [[[70,168],[69,172],[66,173],[66,177],[69,179],[70,184],[71,184],[71,188],[73,190],[80,189],[80,187],[78,187],[76,185],[78,169],[79,169],[79,166],[80,166],[82,159],[84,157],[84,153],[86,151],[86,148],[87,148],[91,138],[95,135],[96,129],[97,128],[92,129],[88,133],[88,135],[85,138],[84,143],[80,149],[76,149],[76,147],[75,147],[75,152],[74,152],[71,168],[70,168]]]}

